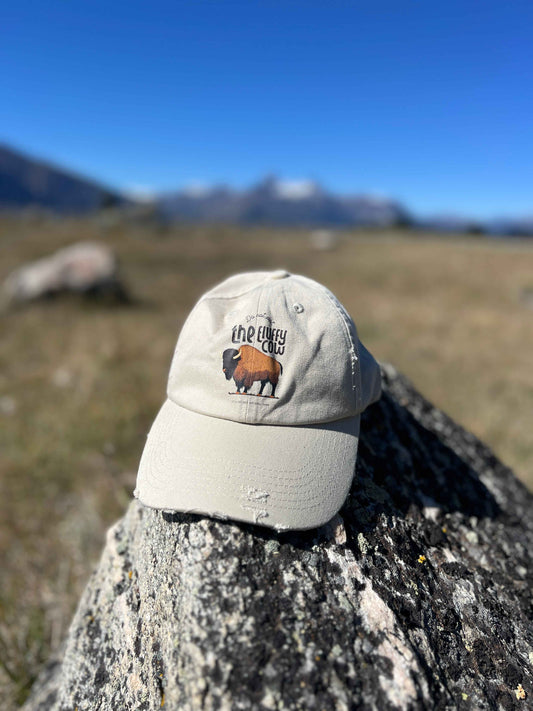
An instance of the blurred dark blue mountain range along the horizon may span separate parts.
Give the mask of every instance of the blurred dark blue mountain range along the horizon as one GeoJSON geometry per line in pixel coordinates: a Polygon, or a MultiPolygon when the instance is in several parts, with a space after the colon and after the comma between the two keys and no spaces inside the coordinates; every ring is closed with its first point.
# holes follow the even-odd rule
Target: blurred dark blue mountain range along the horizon
{"type": "MultiPolygon", "coordinates": [[[[135,205],[135,198],[96,181],[0,145],[0,209],[44,208],[87,213],[135,205]]],[[[145,202],[145,201],[143,201],[145,202]]],[[[313,181],[269,176],[243,190],[189,187],[151,200],[161,221],[302,227],[398,227],[446,232],[533,235],[533,217],[480,222],[458,215],[421,219],[399,202],[369,195],[338,195],[313,181]]]]}

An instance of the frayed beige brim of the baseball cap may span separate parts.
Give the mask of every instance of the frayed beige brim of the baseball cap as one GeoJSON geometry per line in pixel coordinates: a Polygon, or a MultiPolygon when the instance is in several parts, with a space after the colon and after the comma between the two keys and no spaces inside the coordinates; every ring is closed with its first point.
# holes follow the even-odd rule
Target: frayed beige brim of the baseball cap
{"type": "Polygon", "coordinates": [[[243,424],[166,400],[148,435],[135,496],[166,511],[277,530],[315,528],[348,495],[359,422],[356,416],[294,427],[243,424]]]}

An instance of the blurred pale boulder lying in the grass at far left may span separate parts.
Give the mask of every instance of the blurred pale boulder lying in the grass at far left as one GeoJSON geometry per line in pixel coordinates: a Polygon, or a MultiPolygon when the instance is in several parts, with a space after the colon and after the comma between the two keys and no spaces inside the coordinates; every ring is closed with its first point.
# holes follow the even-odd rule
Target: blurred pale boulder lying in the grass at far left
{"type": "Polygon", "coordinates": [[[25,264],[4,282],[4,301],[20,304],[59,293],[126,299],[113,252],[97,242],[78,242],[25,264]]]}

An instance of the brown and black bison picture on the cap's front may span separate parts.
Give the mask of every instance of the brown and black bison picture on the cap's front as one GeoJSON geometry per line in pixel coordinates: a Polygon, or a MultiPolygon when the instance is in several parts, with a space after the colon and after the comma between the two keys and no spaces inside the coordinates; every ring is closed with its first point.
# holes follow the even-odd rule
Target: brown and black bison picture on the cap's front
{"type": "MultiPolygon", "coordinates": [[[[275,397],[276,385],[278,384],[279,376],[283,373],[281,363],[272,356],[261,353],[253,346],[241,346],[239,350],[236,348],[228,348],[222,354],[222,372],[226,376],[226,380],[233,377],[237,386],[237,393],[241,394],[241,388],[244,393],[252,385],[260,380],[261,390],[259,395],[263,395],[263,390],[267,383],[272,386],[270,397],[275,397]]],[[[253,393],[250,393],[252,395],[253,393]]],[[[266,397],[266,395],[263,395],[266,397]]]]}

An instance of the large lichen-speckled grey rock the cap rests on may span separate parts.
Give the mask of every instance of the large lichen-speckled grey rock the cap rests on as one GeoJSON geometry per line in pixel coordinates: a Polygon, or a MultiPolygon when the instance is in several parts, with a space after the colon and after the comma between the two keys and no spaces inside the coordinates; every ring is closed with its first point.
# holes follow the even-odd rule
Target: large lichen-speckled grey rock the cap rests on
{"type": "Polygon", "coordinates": [[[533,497],[383,376],[321,529],[133,502],[25,711],[533,708],[533,497]]]}

